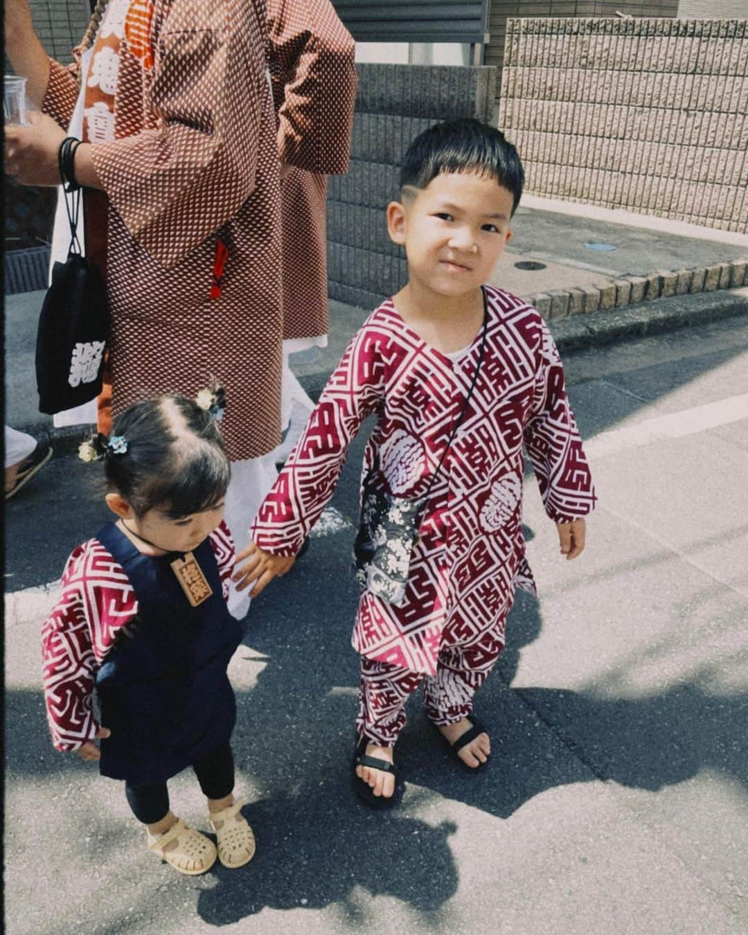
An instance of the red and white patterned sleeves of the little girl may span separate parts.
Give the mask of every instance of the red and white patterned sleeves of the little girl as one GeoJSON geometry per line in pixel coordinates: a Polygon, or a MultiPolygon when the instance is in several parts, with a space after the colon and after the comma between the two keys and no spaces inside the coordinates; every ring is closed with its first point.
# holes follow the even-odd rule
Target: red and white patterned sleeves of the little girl
{"type": "MultiPolygon", "coordinates": [[[[222,523],[210,534],[223,599],[234,568],[234,539],[222,523]]],[[[67,559],[62,596],[41,629],[44,698],[57,750],[77,750],[96,736],[92,700],[96,670],[117,634],[137,614],[137,598],[119,562],[98,539],[67,559]]]]}

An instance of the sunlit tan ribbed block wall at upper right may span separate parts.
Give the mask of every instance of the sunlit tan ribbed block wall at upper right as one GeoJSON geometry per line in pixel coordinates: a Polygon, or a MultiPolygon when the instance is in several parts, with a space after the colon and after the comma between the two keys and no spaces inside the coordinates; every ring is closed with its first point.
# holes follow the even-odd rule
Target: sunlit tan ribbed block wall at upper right
{"type": "Polygon", "coordinates": [[[510,20],[527,191],[748,232],[748,20],[510,20]]]}

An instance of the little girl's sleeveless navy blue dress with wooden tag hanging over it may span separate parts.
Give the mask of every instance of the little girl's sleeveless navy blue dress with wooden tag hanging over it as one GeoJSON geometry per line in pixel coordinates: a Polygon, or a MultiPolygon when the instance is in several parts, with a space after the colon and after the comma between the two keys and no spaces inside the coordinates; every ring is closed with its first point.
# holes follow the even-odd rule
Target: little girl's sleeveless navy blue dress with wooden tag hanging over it
{"type": "Polygon", "coordinates": [[[242,629],[222,597],[209,539],[193,554],[212,595],[193,607],[170,563],[179,553],[152,557],[114,523],[96,537],[120,563],[137,597],[137,616],[124,628],[96,674],[104,776],[155,784],[228,741],[237,719],[226,675],[242,629]]]}

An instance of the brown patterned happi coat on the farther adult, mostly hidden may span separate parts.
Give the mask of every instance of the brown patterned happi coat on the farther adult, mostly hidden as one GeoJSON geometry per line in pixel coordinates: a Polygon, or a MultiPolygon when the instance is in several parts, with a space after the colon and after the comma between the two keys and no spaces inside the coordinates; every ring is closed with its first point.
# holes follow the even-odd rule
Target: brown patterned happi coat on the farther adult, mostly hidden
{"type": "Polygon", "coordinates": [[[327,333],[327,176],[348,169],[355,45],[329,0],[268,0],[281,162],[283,338],[327,333]],[[300,166],[297,168],[296,166],[300,166]]]}

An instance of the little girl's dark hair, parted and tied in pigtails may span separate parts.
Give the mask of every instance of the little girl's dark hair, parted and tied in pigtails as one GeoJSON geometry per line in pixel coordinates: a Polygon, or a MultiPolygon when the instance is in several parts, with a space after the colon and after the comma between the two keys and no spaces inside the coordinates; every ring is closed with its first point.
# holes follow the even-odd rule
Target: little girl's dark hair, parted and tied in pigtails
{"type": "Polygon", "coordinates": [[[124,453],[105,450],[110,492],[137,516],[157,507],[171,519],[210,510],[221,502],[231,468],[218,425],[184,396],[161,396],[130,406],[114,420],[110,439],[124,453]]]}

